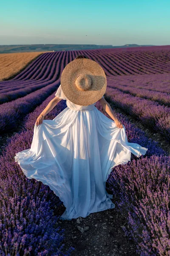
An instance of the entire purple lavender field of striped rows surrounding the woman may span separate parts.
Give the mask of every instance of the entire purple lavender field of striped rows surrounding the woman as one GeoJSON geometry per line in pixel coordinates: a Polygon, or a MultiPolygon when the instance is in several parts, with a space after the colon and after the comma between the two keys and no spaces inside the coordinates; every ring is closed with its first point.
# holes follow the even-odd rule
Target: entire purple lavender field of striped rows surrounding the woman
{"type": "MultiPolygon", "coordinates": [[[[65,249],[65,230],[58,224],[62,202],[48,186],[27,179],[14,155],[30,148],[37,117],[53,99],[64,67],[80,54],[105,70],[104,96],[119,110],[128,141],[148,148],[139,159],[132,155],[131,162],[116,166],[107,180],[116,208],[127,215],[122,229],[138,255],[170,256],[170,46],[45,52],[0,82],[2,142],[10,133],[1,142],[0,255],[74,253],[74,244],[65,249]],[[166,149],[150,134],[161,137],[166,149]]],[[[64,108],[62,100],[45,119],[64,108]]],[[[105,113],[99,102],[96,108],[105,113]]]]}

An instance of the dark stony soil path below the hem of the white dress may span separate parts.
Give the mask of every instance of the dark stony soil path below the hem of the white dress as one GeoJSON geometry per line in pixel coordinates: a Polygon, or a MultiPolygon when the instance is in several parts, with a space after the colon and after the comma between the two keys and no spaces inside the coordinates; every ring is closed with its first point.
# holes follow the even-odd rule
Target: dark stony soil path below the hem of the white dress
{"type": "MultiPolygon", "coordinates": [[[[61,208],[60,215],[65,211],[63,205],[61,208]]],[[[128,228],[127,216],[124,212],[120,214],[116,207],[91,213],[86,218],[59,220],[58,224],[65,229],[65,250],[75,248],[71,256],[138,255],[136,245],[122,230],[122,226],[128,228]]]]}

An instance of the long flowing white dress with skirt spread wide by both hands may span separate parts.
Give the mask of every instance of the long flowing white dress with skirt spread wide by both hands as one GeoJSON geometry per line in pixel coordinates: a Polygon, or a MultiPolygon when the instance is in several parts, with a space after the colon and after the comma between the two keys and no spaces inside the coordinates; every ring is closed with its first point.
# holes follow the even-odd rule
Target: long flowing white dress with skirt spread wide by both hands
{"type": "Polygon", "coordinates": [[[147,148],[128,143],[125,126],[118,128],[96,103],[74,104],[61,85],[55,96],[66,99],[67,108],[34,125],[31,148],[18,152],[15,161],[28,179],[42,181],[60,198],[66,207],[62,220],[114,208],[105,188],[108,175],[130,161],[131,153],[140,157],[147,148]]]}

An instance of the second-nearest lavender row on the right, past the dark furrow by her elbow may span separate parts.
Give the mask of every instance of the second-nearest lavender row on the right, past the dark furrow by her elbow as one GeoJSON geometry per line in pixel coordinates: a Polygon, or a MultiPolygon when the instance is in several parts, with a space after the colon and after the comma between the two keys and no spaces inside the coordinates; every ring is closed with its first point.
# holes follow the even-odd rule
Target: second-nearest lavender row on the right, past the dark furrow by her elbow
{"type": "Polygon", "coordinates": [[[156,102],[141,99],[120,90],[107,87],[106,95],[111,97],[113,105],[140,120],[150,130],[159,132],[170,140],[170,110],[156,102]]]}

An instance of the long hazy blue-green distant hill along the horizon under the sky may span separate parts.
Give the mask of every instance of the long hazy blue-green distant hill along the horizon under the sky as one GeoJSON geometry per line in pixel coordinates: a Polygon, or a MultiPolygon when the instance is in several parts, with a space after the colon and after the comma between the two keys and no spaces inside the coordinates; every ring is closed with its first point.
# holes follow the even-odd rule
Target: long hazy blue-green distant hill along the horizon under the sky
{"type": "Polygon", "coordinates": [[[12,52],[43,52],[43,51],[68,51],[68,50],[87,50],[103,48],[125,48],[125,47],[144,47],[154,45],[125,44],[122,46],[97,45],[97,44],[16,44],[0,45],[0,53],[12,52]]]}

